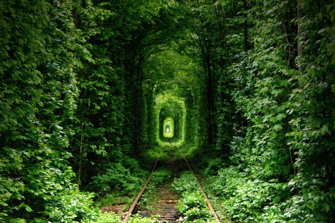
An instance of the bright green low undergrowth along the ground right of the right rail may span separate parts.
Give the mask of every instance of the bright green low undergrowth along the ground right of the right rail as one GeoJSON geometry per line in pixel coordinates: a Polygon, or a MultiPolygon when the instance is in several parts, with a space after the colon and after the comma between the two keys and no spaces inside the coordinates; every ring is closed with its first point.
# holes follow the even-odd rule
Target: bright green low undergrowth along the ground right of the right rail
{"type": "Polygon", "coordinates": [[[301,196],[301,192],[292,188],[294,182],[261,175],[264,170],[255,160],[252,163],[250,157],[249,163],[243,163],[247,155],[243,153],[241,145],[236,144],[237,140],[240,139],[232,143],[232,150],[242,152],[232,154],[230,166],[221,166],[217,171],[208,166],[203,171],[206,193],[214,208],[220,210],[220,219],[227,216],[236,223],[329,222],[320,214],[327,212],[327,206],[325,211],[323,207],[315,209],[322,199],[326,200],[323,192],[315,191],[317,180],[311,179],[313,186],[309,187],[308,196],[301,196]]]}

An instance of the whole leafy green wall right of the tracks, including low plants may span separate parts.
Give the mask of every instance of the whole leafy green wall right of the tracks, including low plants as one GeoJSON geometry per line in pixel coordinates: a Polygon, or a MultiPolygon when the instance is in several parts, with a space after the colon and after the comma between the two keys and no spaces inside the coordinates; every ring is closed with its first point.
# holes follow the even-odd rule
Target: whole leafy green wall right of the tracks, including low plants
{"type": "Polygon", "coordinates": [[[193,18],[189,45],[199,52],[207,83],[207,141],[222,157],[209,167],[228,165],[213,185],[228,216],[236,222],[332,222],[333,2],[185,5],[193,18]]]}

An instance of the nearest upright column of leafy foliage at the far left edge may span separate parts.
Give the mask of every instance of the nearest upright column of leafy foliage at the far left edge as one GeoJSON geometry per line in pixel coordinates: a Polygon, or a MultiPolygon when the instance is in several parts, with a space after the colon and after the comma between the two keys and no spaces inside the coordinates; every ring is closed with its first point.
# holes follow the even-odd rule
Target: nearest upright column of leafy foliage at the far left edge
{"type": "Polygon", "coordinates": [[[70,2],[0,2],[0,221],[40,215],[70,187],[70,2]],[[60,44],[62,43],[62,44],[60,44]]]}

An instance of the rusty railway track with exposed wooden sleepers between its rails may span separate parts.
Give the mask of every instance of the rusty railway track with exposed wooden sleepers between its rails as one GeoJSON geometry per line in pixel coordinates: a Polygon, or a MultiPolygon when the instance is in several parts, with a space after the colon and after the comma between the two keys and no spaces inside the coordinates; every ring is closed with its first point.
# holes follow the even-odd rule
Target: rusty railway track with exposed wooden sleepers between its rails
{"type": "MultiPolygon", "coordinates": [[[[152,171],[148,177],[148,179],[146,180],[146,182],[144,183],[142,189],[140,190],[140,192],[137,194],[131,208],[129,209],[129,211],[127,212],[127,215],[125,216],[125,218],[123,219],[123,223],[127,223],[129,217],[134,213],[135,207],[137,202],[140,200],[140,197],[142,196],[142,194],[144,193],[150,178],[153,174],[153,172],[156,169],[157,163],[159,161],[159,158],[162,154],[163,151],[163,147],[161,148],[161,152],[157,157],[157,160],[152,168],[152,171]]],[[[212,207],[212,205],[210,204],[210,201],[207,197],[207,195],[205,194],[201,183],[199,181],[199,179],[197,178],[197,176],[195,175],[195,173],[193,172],[191,166],[189,165],[187,159],[185,158],[184,154],[182,153],[182,151],[179,149],[179,147],[175,146],[172,147],[172,145],[170,144],[170,157],[169,160],[162,165],[162,167],[169,169],[172,172],[172,178],[175,177],[179,177],[180,173],[183,170],[186,170],[187,168],[190,169],[190,171],[193,173],[194,177],[197,179],[198,184],[199,184],[199,189],[201,190],[206,202],[207,202],[207,206],[209,208],[209,210],[213,213],[215,221],[216,222],[220,222],[219,219],[217,218],[215,211],[212,207]],[[184,159],[183,163],[180,163],[180,161],[176,161],[175,160],[175,154],[176,153],[180,153],[184,159]]],[[[162,185],[161,187],[157,188],[157,197],[159,198],[157,202],[155,202],[154,204],[152,204],[152,214],[154,215],[158,215],[159,218],[159,222],[161,223],[179,223],[178,219],[179,217],[181,217],[181,214],[179,213],[179,211],[175,208],[178,205],[178,201],[179,201],[179,197],[176,193],[173,193],[170,191],[170,185],[172,184],[172,182],[167,182],[166,184],[162,185]]]]}

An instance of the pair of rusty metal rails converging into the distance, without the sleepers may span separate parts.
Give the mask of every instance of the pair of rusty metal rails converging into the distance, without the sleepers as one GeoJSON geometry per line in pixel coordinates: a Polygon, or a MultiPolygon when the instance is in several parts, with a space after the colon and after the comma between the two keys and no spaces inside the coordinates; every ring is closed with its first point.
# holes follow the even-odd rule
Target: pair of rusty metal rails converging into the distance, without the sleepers
{"type": "MultiPolygon", "coordinates": [[[[129,211],[127,212],[127,214],[126,214],[124,220],[122,221],[122,223],[127,223],[129,217],[133,214],[134,209],[135,209],[135,207],[136,207],[136,204],[137,204],[139,198],[142,196],[143,192],[145,191],[145,189],[146,189],[146,187],[147,187],[147,185],[148,185],[148,183],[149,183],[149,181],[150,181],[150,178],[151,178],[153,172],[155,171],[155,168],[156,168],[156,165],[157,165],[157,163],[158,163],[159,157],[160,157],[160,155],[161,155],[162,152],[163,152],[163,147],[164,147],[164,144],[163,144],[163,146],[162,146],[162,148],[161,148],[161,150],[160,150],[160,153],[159,153],[159,155],[158,155],[158,157],[157,157],[157,160],[156,160],[156,162],[155,162],[155,165],[153,166],[152,171],[151,171],[150,175],[148,176],[148,179],[147,179],[146,182],[144,183],[142,189],[141,189],[141,190],[139,191],[139,193],[137,194],[137,196],[136,196],[136,198],[135,198],[135,200],[134,200],[132,206],[130,207],[129,211]]],[[[172,144],[171,144],[171,143],[170,143],[170,147],[172,147],[172,144]]],[[[214,209],[213,209],[213,207],[212,207],[212,205],[211,205],[211,203],[210,203],[210,201],[209,201],[209,199],[208,199],[206,193],[204,192],[204,190],[203,190],[203,188],[202,188],[202,186],[201,186],[201,183],[200,183],[198,177],[197,177],[196,174],[193,172],[191,166],[189,165],[189,162],[186,160],[186,158],[185,158],[184,154],[182,153],[182,151],[179,149],[178,146],[176,146],[176,147],[178,148],[180,154],[183,156],[183,158],[184,158],[184,160],[185,160],[187,166],[189,167],[190,171],[192,172],[192,174],[194,175],[194,177],[197,179],[198,184],[199,184],[199,188],[200,188],[200,190],[201,190],[201,193],[203,194],[203,196],[204,196],[204,198],[205,198],[205,200],[206,200],[206,203],[207,203],[207,206],[208,206],[209,210],[213,213],[214,218],[215,218],[215,221],[218,222],[218,223],[220,223],[220,220],[218,219],[218,217],[217,217],[217,215],[216,215],[216,213],[215,213],[215,211],[214,211],[214,209]]]]}

